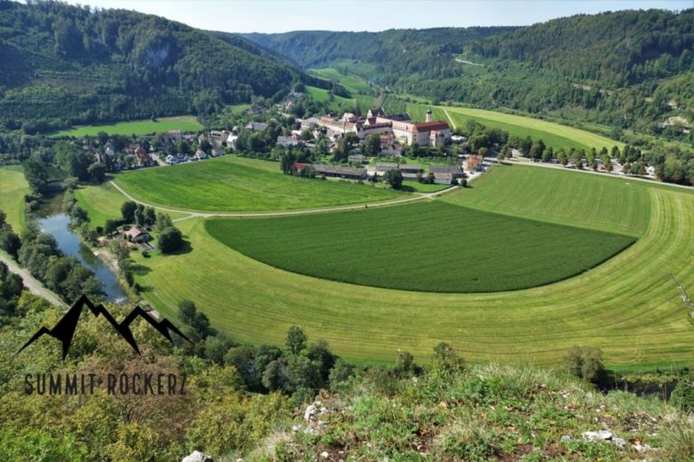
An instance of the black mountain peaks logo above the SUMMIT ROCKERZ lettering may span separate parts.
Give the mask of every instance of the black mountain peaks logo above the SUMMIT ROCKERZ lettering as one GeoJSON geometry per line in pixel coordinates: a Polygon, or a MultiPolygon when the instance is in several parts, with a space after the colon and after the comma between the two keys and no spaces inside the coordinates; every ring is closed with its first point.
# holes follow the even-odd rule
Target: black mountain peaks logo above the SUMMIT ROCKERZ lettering
{"type": "Polygon", "coordinates": [[[123,337],[127,341],[128,345],[133,347],[138,355],[140,355],[140,349],[137,347],[135,337],[133,337],[133,333],[130,331],[130,324],[132,324],[132,322],[137,318],[145,319],[145,321],[155,328],[157,332],[166,337],[166,339],[171,343],[174,343],[174,339],[171,337],[171,332],[178,334],[189,343],[192,343],[191,340],[188,337],[185,337],[183,332],[176,328],[168,319],[157,321],[152,316],[147,314],[145,310],[137,306],[135,309],[130,311],[130,314],[127,315],[126,319],[123,319],[120,323],[118,323],[116,319],[111,316],[111,313],[108,312],[106,307],[100,303],[95,306],[86,296],[82,295],[80,300],[77,300],[75,304],[72,305],[72,308],[65,313],[61,320],[58,321],[58,323],[52,329],[45,327],[40,328],[39,331],[36,332],[33,337],[31,337],[29,341],[26,342],[24,346],[19,349],[19,351],[17,351],[15,355],[19,355],[24,348],[29,347],[33,344],[33,342],[38,340],[39,337],[46,334],[61,341],[62,359],[65,360],[65,357],[68,356],[68,350],[70,349],[72,337],[75,335],[75,330],[77,329],[77,323],[80,321],[80,315],[82,314],[82,310],[85,306],[89,308],[89,311],[91,311],[91,314],[94,316],[98,317],[99,315],[103,315],[103,317],[108,320],[110,325],[116,329],[116,332],[120,335],[120,337],[123,337]]]}

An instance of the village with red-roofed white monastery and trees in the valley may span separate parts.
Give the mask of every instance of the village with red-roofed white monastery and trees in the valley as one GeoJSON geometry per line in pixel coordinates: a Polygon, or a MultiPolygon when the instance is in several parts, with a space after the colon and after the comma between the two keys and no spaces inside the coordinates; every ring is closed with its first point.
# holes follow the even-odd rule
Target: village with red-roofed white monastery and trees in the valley
{"type": "Polygon", "coordinates": [[[451,150],[451,145],[464,143],[465,137],[453,134],[446,122],[432,120],[430,109],[424,122],[414,122],[408,114],[388,115],[381,107],[370,109],[365,116],[346,112],[302,119],[279,112],[266,122],[251,120],[263,118],[264,113],[267,108],[250,106],[244,123],[230,130],[202,134],[170,130],[127,142],[110,136],[100,149],[86,142],[83,149],[92,151],[97,162],[114,172],[198,162],[230,153],[244,155],[249,148],[254,151],[252,156],[267,152],[266,158],[273,161],[283,152],[299,152],[293,173],[304,176],[302,172],[310,169],[311,175],[305,176],[325,179],[380,180],[396,170],[406,181],[448,185],[489,165],[476,152],[451,150]],[[349,144],[349,152],[337,160],[335,152],[341,141],[349,144]],[[427,152],[427,158],[436,158],[436,162],[413,163],[419,157],[413,152],[427,152]]]}

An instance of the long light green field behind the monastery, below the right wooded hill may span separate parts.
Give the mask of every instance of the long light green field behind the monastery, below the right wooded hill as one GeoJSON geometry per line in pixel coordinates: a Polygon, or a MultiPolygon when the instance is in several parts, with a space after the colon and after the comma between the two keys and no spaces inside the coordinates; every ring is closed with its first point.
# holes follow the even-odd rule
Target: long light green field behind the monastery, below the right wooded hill
{"type": "Polygon", "coordinates": [[[586,149],[586,151],[594,147],[598,151],[603,147],[609,150],[614,145],[619,146],[620,149],[624,147],[624,143],[605,138],[599,134],[532,117],[466,107],[445,107],[445,110],[456,126],[464,127],[467,120],[474,119],[483,125],[497,126],[507,130],[511,136],[525,137],[530,135],[533,140],[541,139],[548,146],[552,146],[554,149],[563,148],[567,152],[572,147],[586,149]]]}

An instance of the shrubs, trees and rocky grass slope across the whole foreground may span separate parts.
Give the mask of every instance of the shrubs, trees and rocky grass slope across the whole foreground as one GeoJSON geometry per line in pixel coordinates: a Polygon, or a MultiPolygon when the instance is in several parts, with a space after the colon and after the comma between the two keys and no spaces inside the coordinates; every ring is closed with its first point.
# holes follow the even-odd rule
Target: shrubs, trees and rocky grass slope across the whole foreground
{"type": "MultiPolygon", "coordinates": [[[[4,357],[62,317],[27,292],[18,306],[21,317],[0,331],[4,357]]],[[[130,311],[108,310],[116,319],[130,311]]],[[[193,450],[247,461],[694,457],[686,414],[657,399],[598,393],[565,373],[466,366],[443,343],[424,358],[427,366],[405,351],[394,365],[355,366],[325,342],[309,343],[300,328],[289,330],[286,348],[236,346],[191,302],[182,303],[177,324],[193,344],[176,337],[172,347],[145,322],[133,323],[137,356],[103,317],[84,314],[64,362],[57,341],[43,337],[0,364],[0,460],[170,461],[193,450]],[[187,374],[186,393],[24,393],[27,373],[136,372],[187,374]],[[597,430],[609,438],[584,436],[597,430]]],[[[567,360],[586,365],[594,353],[575,349],[567,360]]],[[[590,379],[586,371],[595,369],[582,374],[590,379]]]]}

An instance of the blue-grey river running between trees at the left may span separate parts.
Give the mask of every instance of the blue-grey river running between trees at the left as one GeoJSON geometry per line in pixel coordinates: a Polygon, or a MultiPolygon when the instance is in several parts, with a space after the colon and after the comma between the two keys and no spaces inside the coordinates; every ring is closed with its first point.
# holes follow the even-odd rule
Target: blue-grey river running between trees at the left
{"type": "Polygon", "coordinates": [[[42,231],[55,237],[63,254],[77,258],[80,263],[96,274],[101,282],[107,301],[123,303],[127,301],[126,292],[118,284],[116,273],[103,260],[93,254],[87,245],[82,244],[80,236],[70,229],[70,217],[62,212],[50,211],[39,217],[42,231]]]}

